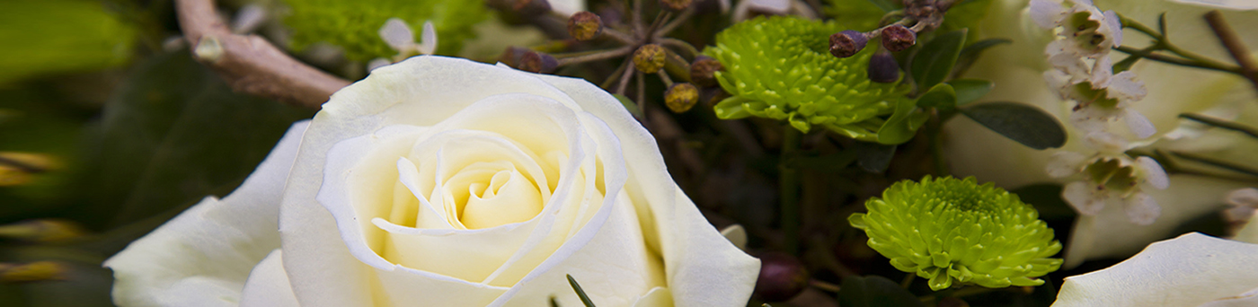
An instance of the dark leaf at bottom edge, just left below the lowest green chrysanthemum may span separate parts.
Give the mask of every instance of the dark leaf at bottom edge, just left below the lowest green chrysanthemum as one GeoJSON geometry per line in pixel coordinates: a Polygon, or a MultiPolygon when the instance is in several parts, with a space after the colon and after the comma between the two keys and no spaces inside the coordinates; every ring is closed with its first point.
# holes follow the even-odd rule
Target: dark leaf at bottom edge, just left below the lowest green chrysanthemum
{"type": "Polygon", "coordinates": [[[881,276],[849,276],[839,286],[843,307],[921,307],[922,302],[899,284],[881,276]]]}

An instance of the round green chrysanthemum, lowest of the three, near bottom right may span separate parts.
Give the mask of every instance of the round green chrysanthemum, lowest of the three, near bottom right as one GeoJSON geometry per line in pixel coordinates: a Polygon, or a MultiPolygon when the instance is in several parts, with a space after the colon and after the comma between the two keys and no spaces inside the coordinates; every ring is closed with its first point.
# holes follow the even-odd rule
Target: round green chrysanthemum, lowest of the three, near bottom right
{"type": "Polygon", "coordinates": [[[901,181],[866,201],[868,214],[848,221],[899,271],[928,278],[931,289],[954,283],[988,288],[1039,286],[1057,271],[1062,250],[1039,213],[1018,195],[974,177],[901,181]]]}

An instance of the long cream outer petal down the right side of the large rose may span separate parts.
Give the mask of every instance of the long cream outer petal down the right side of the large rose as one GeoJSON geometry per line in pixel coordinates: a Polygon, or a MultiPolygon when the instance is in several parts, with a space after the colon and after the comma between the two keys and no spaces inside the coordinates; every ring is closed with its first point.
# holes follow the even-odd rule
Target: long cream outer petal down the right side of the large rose
{"type": "Polygon", "coordinates": [[[582,79],[540,75],[600,118],[620,140],[629,179],[625,191],[637,205],[648,247],[663,254],[668,288],[677,306],[743,306],[760,260],[747,255],[708,224],[668,175],[654,137],[601,88],[582,79]]]}

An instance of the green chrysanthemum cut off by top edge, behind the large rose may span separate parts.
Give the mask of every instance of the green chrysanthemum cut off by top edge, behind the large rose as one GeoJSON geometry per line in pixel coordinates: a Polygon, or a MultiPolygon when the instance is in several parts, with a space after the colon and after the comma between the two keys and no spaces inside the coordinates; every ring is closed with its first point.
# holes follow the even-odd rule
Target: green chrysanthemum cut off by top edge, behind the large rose
{"type": "MultiPolygon", "coordinates": [[[[489,16],[483,0],[284,0],[292,9],[284,24],[293,29],[292,47],[313,43],[341,47],[351,60],[367,62],[398,54],[380,38],[385,20],[399,18],[420,34],[425,21],[437,29],[438,54],[454,54],[473,36],[472,25],[489,16]]],[[[416,38],[418,39],[418,38],[416,38]]]]}

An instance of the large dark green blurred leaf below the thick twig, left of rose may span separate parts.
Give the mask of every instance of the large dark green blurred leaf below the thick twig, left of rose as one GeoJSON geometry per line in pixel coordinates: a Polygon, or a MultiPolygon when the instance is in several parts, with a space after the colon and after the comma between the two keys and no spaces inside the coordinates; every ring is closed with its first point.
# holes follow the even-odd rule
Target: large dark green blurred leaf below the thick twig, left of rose
{"type": "Polygon", "coordinates": [[[312,113],[234,93],[186,50],[153,57],[109,98],[99,126],[88,128],[93,159],[74,215],[96,226],[123,225],[223,196],[293,121],[312,113]]]}

